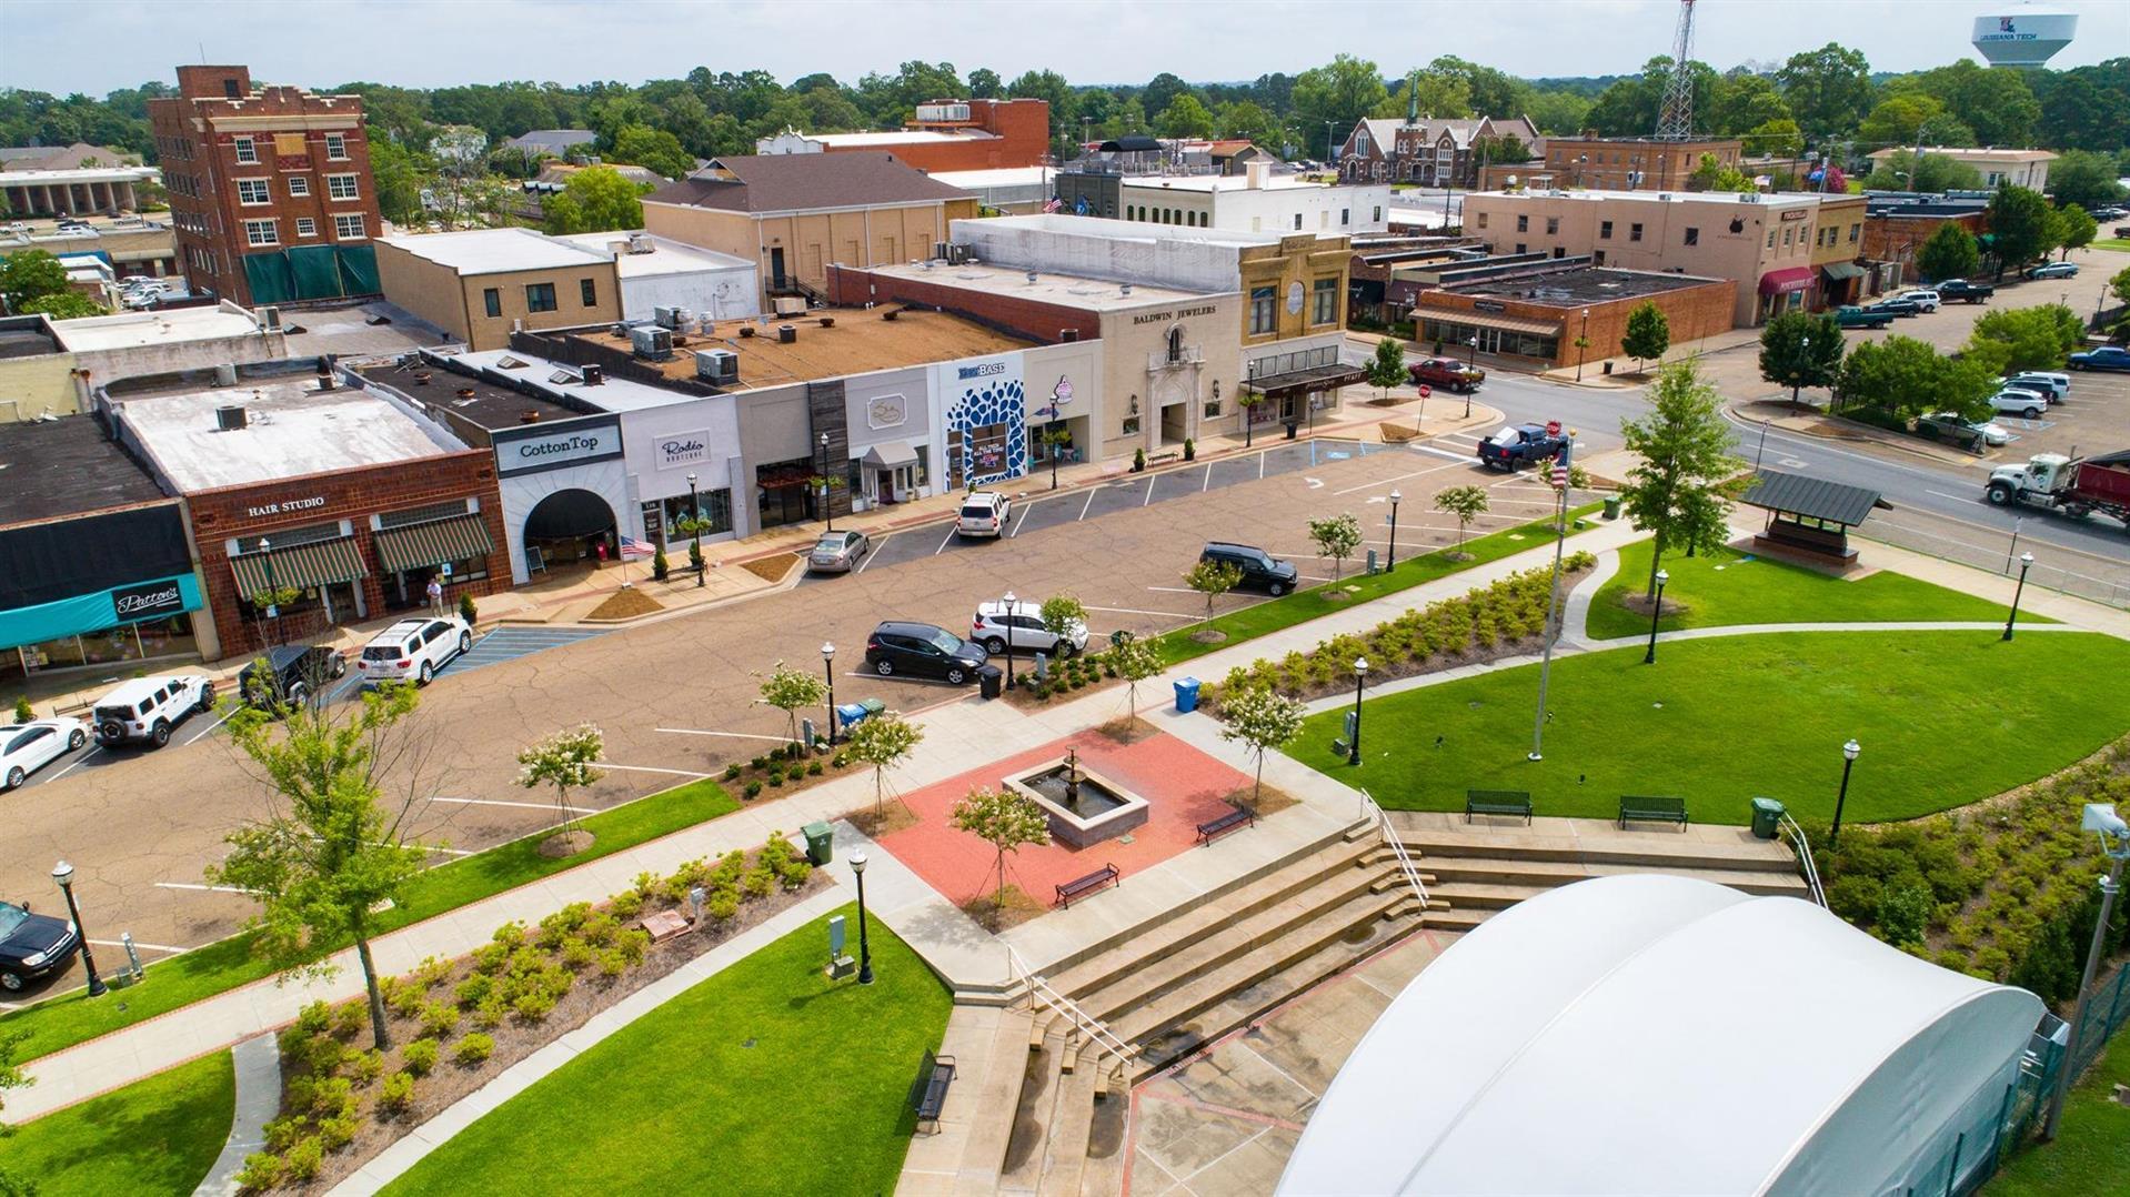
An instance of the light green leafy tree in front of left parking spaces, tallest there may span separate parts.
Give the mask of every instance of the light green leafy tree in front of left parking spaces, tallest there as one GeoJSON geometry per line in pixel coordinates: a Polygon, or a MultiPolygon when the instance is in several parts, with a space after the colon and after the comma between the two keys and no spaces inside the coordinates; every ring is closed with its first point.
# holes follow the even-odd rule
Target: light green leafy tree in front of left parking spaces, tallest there
{"type": "Polygon", "coordinates": [[[264,818],[226,835],[228,856],[207,867],[209,884],[258,899],[251,927],[277,971],[330,973],[322,950],[354,941],[379,1050],[390,1042],[371,933],[377,909],[400,897],[428,856],[428,846],[407,837],[407,818],[428,797],[426,741],[407,731],[417,703],[413,686],[386,684],[358,703],[239,707],[230,741],[258,771],[268,805],[264,818]],[[388,777],[405,784],[390,809],[388,777]]]}

